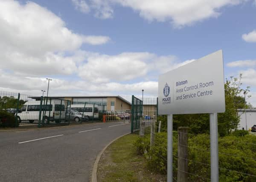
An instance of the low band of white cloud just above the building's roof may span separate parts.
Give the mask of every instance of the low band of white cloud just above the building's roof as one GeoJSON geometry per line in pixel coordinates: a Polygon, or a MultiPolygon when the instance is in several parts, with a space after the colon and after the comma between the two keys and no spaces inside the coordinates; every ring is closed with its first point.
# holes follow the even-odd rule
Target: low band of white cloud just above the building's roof
{"type": "MultiPolygon", "coordinates": [[[[48,81],[42,77],[20,77],[19,75],[0,70],[0,90],[22,92],[29,95],[39,95],[41,90],[47,89],[48,81]]],[[[119,95],[120,93],[131,95],[138,94],[141,89],[147,90],[147,94],[157,95],[157,81],[146,81],[131,84],[117,82],[94,84],[87,81],[53,78],[50,82],[50,95],[119,95]]]]}

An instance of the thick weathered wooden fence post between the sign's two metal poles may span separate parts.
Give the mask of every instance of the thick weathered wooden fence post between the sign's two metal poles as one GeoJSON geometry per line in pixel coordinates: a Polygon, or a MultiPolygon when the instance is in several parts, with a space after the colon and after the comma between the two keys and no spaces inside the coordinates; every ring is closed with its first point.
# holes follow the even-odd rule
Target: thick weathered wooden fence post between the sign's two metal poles
{"type": "Polygon", "coordinates": [[[188,181],[188,130],[189,127],[178,127],[178,182],[188,181]]]}

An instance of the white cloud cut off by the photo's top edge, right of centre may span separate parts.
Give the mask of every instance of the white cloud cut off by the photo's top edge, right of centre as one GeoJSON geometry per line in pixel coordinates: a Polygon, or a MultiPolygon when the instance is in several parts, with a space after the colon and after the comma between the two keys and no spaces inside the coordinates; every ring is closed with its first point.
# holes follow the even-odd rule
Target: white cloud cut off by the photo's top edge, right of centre
{"type": "Polygon", "coordinates": [[[113,17],[111,6],[119,4],[139,12],[146,20],[171,21],[175,27],[218,17],[221,8],[244,1],[246,0],[90,0],[101,18],[113,17]]]}

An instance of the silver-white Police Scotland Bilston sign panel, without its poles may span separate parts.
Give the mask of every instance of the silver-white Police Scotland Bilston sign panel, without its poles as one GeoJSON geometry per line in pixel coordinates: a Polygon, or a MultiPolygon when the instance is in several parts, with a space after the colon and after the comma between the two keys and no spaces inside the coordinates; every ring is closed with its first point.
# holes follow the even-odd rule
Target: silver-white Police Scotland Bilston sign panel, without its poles
{"type": "Polygon", "coordinates": [[[222,50],[160,75],[158,113],[224,113],[222,50]]]}

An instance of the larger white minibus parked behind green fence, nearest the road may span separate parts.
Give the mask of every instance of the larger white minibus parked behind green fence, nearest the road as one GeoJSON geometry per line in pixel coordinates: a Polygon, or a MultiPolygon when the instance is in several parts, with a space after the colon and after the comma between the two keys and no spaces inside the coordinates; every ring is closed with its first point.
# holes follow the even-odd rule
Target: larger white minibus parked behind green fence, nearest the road
{"type": "MultiPolygon", "coordinates": [[[[19,122],[28,120],[33,123],[39,119],[41,101],[27,101],[21,108],[21,112],[17,113],[17,120],[19,122]]],[[[44,118],[44,123],[55,121],[59,123],[61,119],[66,117],[65,102],[61,100],[43,101],[41,108],[41,119],[44,118]]]]}

